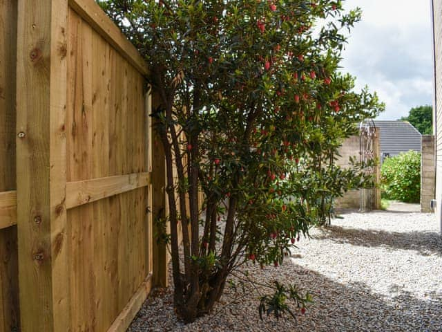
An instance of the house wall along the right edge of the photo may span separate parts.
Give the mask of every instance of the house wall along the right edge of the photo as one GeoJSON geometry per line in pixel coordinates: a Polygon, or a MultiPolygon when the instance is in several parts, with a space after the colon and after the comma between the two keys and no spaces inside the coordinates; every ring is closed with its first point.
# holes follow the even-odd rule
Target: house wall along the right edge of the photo
{"type": "Polygon", "coordinates": [[[436,219],[442,211],[442,1],[432,1],[434,36],[434,133],[436,153],[436,219]]]}

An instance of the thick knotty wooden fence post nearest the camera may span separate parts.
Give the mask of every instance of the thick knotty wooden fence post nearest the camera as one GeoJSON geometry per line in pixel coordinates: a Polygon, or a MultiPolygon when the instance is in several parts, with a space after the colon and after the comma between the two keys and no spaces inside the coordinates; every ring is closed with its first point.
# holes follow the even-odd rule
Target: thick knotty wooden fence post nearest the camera
{"type": "Polygon", "coordinates": [[[70,331],[65,128],[68,0],[18,3],[21,331],[70,331]]]}

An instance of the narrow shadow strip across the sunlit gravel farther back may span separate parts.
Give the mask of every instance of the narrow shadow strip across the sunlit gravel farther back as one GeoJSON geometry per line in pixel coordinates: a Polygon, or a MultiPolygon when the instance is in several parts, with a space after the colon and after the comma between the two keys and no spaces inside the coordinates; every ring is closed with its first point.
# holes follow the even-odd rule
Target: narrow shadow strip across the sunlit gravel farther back
{"type": "Polygon", "coordinates": [[[442,237],[438,232],[385,232],[329,226],[313,237],[329,239],[336,243],[354,246],[385,247],[390,249],[416,250],[423,256],[442,256],[442,237]]]}

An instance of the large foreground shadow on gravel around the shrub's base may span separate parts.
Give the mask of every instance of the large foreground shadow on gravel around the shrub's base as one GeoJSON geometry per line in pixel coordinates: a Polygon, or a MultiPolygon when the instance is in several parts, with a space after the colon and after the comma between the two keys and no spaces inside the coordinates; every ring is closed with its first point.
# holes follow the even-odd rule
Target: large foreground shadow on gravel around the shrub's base
{"type": "Polygon", "coordinates": [[[296,284],[302,293],[309,291],[313,295],[314,303],[309,304],[305,315],[294,308],[297,320],[286,315],[280,320],[265,317],[261,321],[258,296],[252,287],[244,291],[226,287],[221,299],[224,305],[217,304],[212,315],[184,325],[173,313],[171,287],[158,297],[147,299],[128,331],[442,331],[442,293],[421,294],[421,299],[404,291],[402,285],[393,284],[390,294],[385,296],[373,293],[363,282],[336,282],[299,266],[293,259],[285,260],[278,268],[261,270],[258,266],[249,266],[244,269],[258,283],[277,279],[285,284],[296,284]]]}

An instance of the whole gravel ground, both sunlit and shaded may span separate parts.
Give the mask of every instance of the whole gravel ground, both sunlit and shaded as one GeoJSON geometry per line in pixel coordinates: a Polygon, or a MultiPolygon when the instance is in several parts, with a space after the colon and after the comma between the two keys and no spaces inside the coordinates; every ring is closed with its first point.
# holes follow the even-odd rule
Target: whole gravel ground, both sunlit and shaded
{"type": "MultiPolygon", "coordinates": [[[[171,288],[146,300],[128,331],[442,331],[442,239],[434,214],[347,213],[311,230],[278,268],[244,268],[257,282],[298,284],[305,315],[258,317],[258,295],[226,288],[213,315],[177,321],[171,288]]],[[[260,288],[258,286],[258,288],[260,288]]]]}

